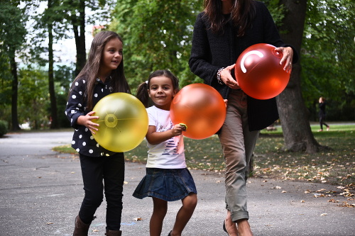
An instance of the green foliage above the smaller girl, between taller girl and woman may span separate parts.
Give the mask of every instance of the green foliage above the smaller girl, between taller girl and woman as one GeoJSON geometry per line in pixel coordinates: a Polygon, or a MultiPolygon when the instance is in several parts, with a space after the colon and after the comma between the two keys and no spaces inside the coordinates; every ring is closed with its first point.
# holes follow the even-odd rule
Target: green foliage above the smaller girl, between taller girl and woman
{"type": "Polygon", "coordinates": [[[202,1],[124,0],[110,30],[124,39],[126,77],[132,88],[157,69],[170,69],[181,86],[199,81],[188,67],[192,30],[202,1]]]}

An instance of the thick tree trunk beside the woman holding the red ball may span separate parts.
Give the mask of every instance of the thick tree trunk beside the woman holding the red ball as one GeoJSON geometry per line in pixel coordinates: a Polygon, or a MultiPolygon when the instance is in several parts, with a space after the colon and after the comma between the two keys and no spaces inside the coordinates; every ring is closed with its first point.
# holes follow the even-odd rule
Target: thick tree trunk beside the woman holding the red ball
{"type": "MultiPolygon", "coordinates": [[[[281,38],[285,43],[293,45],[300,56],[307,0],[280,0],[286,8],[283,26],[279,28],[281,38]]],[[[280,122],[283,128],[284,149],[293,152],[315,153],[320,145],[312,134],[309,122],[309,112],[302,99],[300,57],[293,64],[290,82],[285,91],[276,97],[280,122]]]]}

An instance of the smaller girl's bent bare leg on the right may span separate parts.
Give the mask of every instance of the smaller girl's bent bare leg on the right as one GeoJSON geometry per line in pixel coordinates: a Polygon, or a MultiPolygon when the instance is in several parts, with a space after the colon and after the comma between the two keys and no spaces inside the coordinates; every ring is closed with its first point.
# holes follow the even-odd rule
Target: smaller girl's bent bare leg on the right
{"type": "Polygon", "coordinates": [[[176,215],[173,231],[170,232],[171,236],[180,236],[182,234],[182,230],[184,230],[185,226],[187,225],[187,222],[189,222],[192,214],[194,213],[196,205],[196,193],[190,193],[188,196],[182,199],[182,207],[176,215]]]}

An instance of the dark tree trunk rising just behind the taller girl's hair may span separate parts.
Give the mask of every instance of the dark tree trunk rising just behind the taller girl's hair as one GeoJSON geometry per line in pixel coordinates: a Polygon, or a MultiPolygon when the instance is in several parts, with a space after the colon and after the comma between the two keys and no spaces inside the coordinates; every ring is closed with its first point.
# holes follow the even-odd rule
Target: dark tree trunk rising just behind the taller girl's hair
{"type": "Polygon", "coordinates": [[[80,0],[80,6],[78,7],[80,15],[73,16],[72,28],[75,36],[75,46],[77,49],[77,63],[75,67],[75,76],[84,67],[87,62],[86,48],[85,48],[85,1],[80,0]],[[80,31],[80,32],[79,32],[80,31]]]}

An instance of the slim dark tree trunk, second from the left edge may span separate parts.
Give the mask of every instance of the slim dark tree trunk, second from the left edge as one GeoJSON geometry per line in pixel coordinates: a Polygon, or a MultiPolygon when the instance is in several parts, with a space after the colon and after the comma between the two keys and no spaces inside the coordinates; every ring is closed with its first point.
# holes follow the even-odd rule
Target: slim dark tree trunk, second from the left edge
{"type": "MultiPolygon", "coordinates": [[[[51,0],[48,0],[48,9],[53,7],[51,0]]],[[[50,128],[59,128],[58,126],[58,111],[57,99],[55,96],[54,76],[53,76],[53,23],[48,22],[48,86],[50,94],[50,128]]]]}

